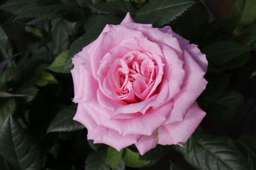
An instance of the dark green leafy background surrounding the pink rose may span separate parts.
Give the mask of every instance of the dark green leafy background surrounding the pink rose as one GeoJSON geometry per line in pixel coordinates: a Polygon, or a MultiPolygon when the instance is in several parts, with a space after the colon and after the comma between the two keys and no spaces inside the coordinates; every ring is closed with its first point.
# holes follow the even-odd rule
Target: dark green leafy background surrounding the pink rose
{"type": "Polygon", "coordinates": [[[0,169],[256,169],[255,0],[237,0],[214,20],[193,0],[0,5],[0,169]],[[184,148],[117,152],[87,141],[72,120],[71,57],[127,11],[137,22],[172,26],[207,55],[209,84],[198,98],[207,115],[184,148]]]}

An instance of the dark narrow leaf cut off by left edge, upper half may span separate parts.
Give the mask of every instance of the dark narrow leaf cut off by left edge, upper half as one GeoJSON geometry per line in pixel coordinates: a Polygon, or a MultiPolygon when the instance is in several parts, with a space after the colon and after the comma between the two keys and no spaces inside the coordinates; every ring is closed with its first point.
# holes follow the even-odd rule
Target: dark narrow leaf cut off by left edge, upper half
{"type": "Polygon", "coordinates": [[[10,60],[13,57],[12,45],[8,39],[8,36],[4,32],[3,27],[1,27],[1,25],[0,25],[0,54],[3,56],[4,59],[8,61],[10,66],[13,65],[12,60],[10,60]]]}

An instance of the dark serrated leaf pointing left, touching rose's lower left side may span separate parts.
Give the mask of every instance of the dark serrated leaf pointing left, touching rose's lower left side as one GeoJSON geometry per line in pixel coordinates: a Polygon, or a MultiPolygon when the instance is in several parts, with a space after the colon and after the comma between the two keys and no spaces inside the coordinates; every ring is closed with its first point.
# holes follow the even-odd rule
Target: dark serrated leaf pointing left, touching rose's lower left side
{"type": "Polygon", "coordinates": [[[49,125],[47,132],[71,132],[84,129],[84,126],[73,120],[77,105],[70,105],[61,110],[49,125]]]}

